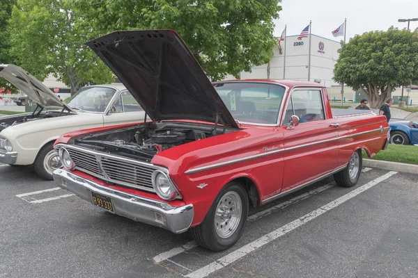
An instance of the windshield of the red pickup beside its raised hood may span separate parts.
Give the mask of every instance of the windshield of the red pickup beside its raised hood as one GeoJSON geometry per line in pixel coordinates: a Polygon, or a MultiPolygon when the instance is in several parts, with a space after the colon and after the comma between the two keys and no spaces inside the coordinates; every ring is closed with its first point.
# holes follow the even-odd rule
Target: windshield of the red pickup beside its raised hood
{"type": "Polygon", "coordinates": [[[235,120],[248,124],[277,124],[284,87],[249,82],[215,83],[214,86],[235,120]]]}

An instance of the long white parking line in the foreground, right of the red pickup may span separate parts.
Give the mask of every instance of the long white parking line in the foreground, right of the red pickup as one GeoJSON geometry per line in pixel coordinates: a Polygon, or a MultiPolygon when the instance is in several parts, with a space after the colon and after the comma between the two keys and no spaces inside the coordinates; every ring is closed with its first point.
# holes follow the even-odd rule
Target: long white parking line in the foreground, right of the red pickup
{"type": "Polygon", "coordinates": [[[281,236],[284,236],[288,232],[296,229],[297,227],[300,227],[303,224],[306,224],[307,222],[317,218],[319,215],[327,211],[330,211],[332,208],[336,208],[336,206],[339,206],[340,204],[347,202],[349,199],[352,199],[353,197],[364,192],[365,190],[368,190],[369,188],[376,186],[376,184],[380,183],[381,181],[385,181],[385,179],[389,179],[389,177],[392,177],[396,173],[397,172],[388,172],[387,174],[384,174],[382,177],[373,179],[373,181],[370,181],[364,184],[364,186],[360,186],[359,188],[351,191],[350,193],[343,195],[342,197],[339,197],[338,199],[328,204],[325,204],[325,206],[321,206],[315,211],[311,211],[311,213],[308,213],[307,215],[304,215],[301,218],[297,218],[293,222],[290,222],[284,225],[283,227],[280,227],[279,229],[276,229],[270,232],[269,234],[266,234],[265,236],[262,236],[261,238],[254,240],[253,242],[239,248],[238,250],[235,250],[234,252],[231,252],[230,254],[223,256],[221,259],[218,259],[217,261],[214,261],[213,263],[210,263],[204,266],[203,268],[200,268],[199,270],[189,273],[185,277],[189,277],[189,278],[207,277],[212,272],[220,270],[226,267],[227,265],[233,263],[234,261],[237,261],[238,259],[241,259],[247,254],[253,252],[254,250],[257,250],[261,246],[270,243],[272,240],[275,240],[281,236]]]}

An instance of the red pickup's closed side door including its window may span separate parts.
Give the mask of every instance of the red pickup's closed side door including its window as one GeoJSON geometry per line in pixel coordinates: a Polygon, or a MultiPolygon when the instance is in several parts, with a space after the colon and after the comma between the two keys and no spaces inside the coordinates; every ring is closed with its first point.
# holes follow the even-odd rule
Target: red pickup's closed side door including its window
{"type": "MultiPolygon", "coordinates": [[[[325,93],[325,92],[324,92],[325,93]]],[[[328,119],[322,88],[295,88],[286,101],[281,126],[284,132],[284,179],[282,192],[303,186],[339,167],[338,128],[328,119]],[[288,128],[290,117],[300,124],[288,128]]]]}

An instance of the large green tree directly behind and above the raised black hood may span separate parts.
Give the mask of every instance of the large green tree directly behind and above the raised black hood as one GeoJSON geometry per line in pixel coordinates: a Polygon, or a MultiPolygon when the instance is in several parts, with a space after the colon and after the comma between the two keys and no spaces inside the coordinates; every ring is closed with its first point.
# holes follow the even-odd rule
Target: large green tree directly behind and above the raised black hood
{"type": "Polygon", "coordinates": [[[281,0],[70,0],[95,30],[173,29],[212,80],[268,63],[281,0]]]}

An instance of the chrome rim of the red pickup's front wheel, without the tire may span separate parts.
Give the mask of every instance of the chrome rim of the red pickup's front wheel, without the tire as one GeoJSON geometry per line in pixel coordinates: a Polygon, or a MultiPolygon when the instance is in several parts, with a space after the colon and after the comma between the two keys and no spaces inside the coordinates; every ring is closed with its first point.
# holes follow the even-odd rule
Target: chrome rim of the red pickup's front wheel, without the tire
{"type": "Polygon", "coordinates": [[[215,231],[219,238],[229,238],[241,221],[242,201],[235,191],[226,193],[220,199],[215,212],[215,231]]]}

